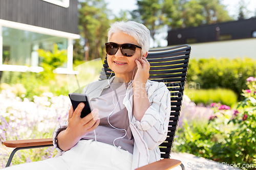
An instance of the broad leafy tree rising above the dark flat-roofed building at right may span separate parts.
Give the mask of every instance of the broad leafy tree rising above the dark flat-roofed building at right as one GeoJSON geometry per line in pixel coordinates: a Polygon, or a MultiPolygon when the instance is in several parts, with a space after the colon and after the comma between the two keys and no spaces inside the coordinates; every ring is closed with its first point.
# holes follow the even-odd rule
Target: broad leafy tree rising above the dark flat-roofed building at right
{"type": "Polygon", "coordinates": [[[162,11],[171,29],[232,20],[218,0],[164,0],[162,11]]]}

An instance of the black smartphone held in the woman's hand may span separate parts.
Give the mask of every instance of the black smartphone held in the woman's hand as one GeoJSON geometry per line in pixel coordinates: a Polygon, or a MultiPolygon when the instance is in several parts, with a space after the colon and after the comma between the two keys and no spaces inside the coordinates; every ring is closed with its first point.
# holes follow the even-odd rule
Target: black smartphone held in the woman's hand
{"type": "Polygon", "coordinates": [[[79,103],[84,103],[84,108],[81,111],[80,117],[83,118],[92,112],[93,108],[91,106],[88,95],[79,93],[69,93],[69,98],[71,100],[74,111],[76,110],[79,103]]]}

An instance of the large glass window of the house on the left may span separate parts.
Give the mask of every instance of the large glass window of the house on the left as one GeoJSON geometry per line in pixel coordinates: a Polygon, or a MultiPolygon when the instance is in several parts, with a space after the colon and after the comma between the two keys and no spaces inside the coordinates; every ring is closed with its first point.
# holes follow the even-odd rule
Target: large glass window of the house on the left
{"type": "MultiPolygon", "coordinates": [[[[37,50],[53,51],[54,43],[59,50],[67,50],[68,39],[30,31],[2,27],[3,64],[39,66],[37,50]]],[[[67,67],[67,63],[63,65],[67,67]]]]}

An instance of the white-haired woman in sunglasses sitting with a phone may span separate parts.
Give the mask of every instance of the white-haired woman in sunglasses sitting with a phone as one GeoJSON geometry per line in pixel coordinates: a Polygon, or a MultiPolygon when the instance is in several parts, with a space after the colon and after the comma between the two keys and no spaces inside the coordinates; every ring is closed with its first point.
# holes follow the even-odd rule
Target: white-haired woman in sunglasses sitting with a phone
{"type": "Polygon", "coordinates": [[[170,93],[164,83],[148,80],[150,31],[140,23],[121,21],[111,25],[108,36],[106,53],[115,77],[84,88],[94,110],[80,118],[84,104],[75,111],[71,107],[68,121],[53,136],[59,154],[36,162],[37,168],[135,169],[160,159],[170,93]]]}

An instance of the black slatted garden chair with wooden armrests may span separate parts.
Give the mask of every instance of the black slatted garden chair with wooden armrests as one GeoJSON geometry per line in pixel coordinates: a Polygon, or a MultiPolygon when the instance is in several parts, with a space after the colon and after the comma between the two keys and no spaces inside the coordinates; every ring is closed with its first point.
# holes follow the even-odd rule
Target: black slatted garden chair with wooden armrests
{"type": "MultiPolygon", "coordinates": [[[[151,64],[149,79],[165,83],[171,94],[170,100],[172,108],[169,118],[167,138],[159,146],[161,158],[163,159],[137,168],[138,170],[170,169],[178,165],[180,165],[182,169],[185,169],[181,161],[169,159],[169,157],[179,121],[190,50],[190,46],[185,44],[176,47],[153,49],[148,52],[146,59],[151,64]]],[[[111,69],[105,58],[100,80],[108,79],[110,75],[111,69]]],[[[114,75],[115,74],[113,73],[111,76],[114,75]]],[[[4,144],[6,147],[16,148],[11,153],[8,160],[7,166],[9,166],[16,151],[20,149],[49,147],[52,145],[52,138],[5,141],[4,144]]]]}

